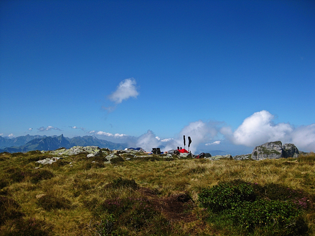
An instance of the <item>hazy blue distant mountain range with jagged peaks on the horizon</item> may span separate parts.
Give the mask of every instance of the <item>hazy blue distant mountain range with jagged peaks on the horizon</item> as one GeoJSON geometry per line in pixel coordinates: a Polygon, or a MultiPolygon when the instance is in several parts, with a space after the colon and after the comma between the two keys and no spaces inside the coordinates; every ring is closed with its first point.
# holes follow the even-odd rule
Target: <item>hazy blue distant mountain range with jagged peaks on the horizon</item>
{"type": "Polygon", "coordinates": [[[32,150],[56,150],[59,148],[72,148],[74,146],[98,146],[100,148],[109,149],[125,149],[127,143],[112,143],[95,136],[83,136],[67,138],[63,134],[60,136],[40,136],[26,135],[17,138],[3,138],[0,136],[0,152],[28,152],[32,150]]]}

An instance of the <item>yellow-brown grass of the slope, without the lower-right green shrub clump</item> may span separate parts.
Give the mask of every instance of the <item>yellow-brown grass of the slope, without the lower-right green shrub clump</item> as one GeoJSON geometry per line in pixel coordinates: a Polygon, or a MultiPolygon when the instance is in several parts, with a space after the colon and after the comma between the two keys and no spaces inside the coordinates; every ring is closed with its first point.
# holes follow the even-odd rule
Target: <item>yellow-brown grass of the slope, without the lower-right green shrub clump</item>
{"type": "MultiPolygon", "coordinates": [[[[38,165],[34,160],[46,157],[51,155],[35,152],[1,154],[0,195],[4,199],[2,211],[14,210],[17,213],[6,213],[7,215],[3,216],[0,235],[9,235],[10,232],[11,235],[22,235],[19,228],[27,224],[37,225],[42,230],[37,235],[95,235],[100,220],[104,222],[106,217],[109,219],[110,210],[104,208],[104,202],[109,199],[131,199],[132,203],[121,204],[131,204],[130,209],[135,209],[131,215],[124,212],[122,215],[125,218],[113,221],[112,224],[121,224],[117,234],[239,235],[240,232],[236,228],[218,223],[220,219],[209,220],[211,213],[198,206],[197,194],[202,188],[242,179],[261,185],[278,183],[288,188],[303,189],[312,196],[315,193],[314,153],[299,159],[134,160],[105,165],[102,164],[101,158],[87,159],[83,154],[67,156],[52,165],[40,166],[40,171],[47,172],[35,170],[38,165]],[[99,164],[91,163],[93,160],[99,164]],[[70,162],[73,162],[73,166],[69,165],[70,162]],[[49,173],[52,173],[53,177],[50,178],[49,173]],[[109,187],[108,184],[119,177],[125,180],[134,179],[138,188],[119,185],[109,187]],[[183,193],[192,200],[176,202],[176,198],[183,193]],[[41,197],[40,194],[46,195],[41,197]],[[140,206],[136,206],[133,199],[148,200],[152,214],[146,218],[138,216],[137,209],[139,210],[140,206]],[[51,205],[51,202],[57,202],[59,205],[51,205]],[[130,220],[132,217],[136,223],[130,220]]],[[[305,219],[309,235],[313,235],[314,211],[305,212],[305,219]]],[[[27,229],[23,230],[27,232],[27,229]]],[[[243,234],[246,235],[244,232],[243,234]]]]}

